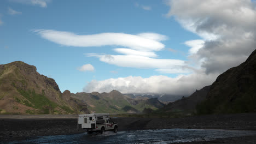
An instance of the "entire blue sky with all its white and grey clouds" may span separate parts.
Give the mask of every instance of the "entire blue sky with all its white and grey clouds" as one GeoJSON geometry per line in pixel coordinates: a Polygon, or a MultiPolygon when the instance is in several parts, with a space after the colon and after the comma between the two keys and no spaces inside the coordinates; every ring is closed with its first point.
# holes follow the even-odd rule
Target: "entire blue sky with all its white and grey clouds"
{"type": "Polygon", "coordinates": [[[255,50],[251,0],[3,0],[0,64],[61,92],[190,95],[255,50]]]}

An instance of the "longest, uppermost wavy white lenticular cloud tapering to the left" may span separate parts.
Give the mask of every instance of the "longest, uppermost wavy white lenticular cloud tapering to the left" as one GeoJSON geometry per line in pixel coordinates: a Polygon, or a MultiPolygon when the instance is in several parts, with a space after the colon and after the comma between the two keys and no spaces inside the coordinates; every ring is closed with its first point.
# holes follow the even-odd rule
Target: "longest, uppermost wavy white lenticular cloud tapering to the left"
{"type": "MultiPolygon", "coordinates": [[[[38,29],[34,31],[42,38],[65,46],[106,46],[119,45],[133,50],[159,51],[165,47],[159,41],[126,33],[100,33],[91,35],[78,35],[71,32],[38,29]]],[[[155,34],[158,35],[158,34],[155,34]]],[[[159,35],[162,37],[162,35],[159,35]]],[[[161,39],[161,38],[158,38],[161,39]]]]}

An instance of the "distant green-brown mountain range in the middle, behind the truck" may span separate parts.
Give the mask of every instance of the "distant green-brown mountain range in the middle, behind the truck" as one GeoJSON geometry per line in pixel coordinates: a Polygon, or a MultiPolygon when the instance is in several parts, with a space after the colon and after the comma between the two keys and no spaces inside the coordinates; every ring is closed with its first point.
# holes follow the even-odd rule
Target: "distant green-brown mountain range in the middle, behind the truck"
{"type": "Polygon", "coordinates": [[[71,97],[84,101],[88,109],[95,113],[140,113],[144,108],[157,110],[164,106],[157,98],[134,99],[132,95],[115,90],[109,93],[72,93],[71,97]]]}

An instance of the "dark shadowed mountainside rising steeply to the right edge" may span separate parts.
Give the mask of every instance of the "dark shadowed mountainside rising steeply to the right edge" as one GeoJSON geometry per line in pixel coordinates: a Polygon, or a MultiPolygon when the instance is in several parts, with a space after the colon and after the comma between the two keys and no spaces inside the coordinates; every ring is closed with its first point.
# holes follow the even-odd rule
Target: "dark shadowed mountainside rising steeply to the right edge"
{"type": "Polygon", "coordinates": [[[256,112],[256,50],[244,63],[217,77],[206,100],[197,106],[197,112],[256,112]]]}

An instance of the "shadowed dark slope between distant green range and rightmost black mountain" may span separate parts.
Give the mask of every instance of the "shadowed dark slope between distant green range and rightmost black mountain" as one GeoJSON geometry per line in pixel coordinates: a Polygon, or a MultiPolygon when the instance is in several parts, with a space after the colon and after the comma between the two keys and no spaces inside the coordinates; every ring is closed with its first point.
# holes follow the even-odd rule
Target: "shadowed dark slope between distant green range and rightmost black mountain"
{"type": "Polygon", "coordinates": [[[169,103],[161,109],[164,112],[183,112],[183,113],[195,113],[196,105],[206,99],[207,93],[210,91],[211,86],[206,86],[195,91],[189,97],[183,97],[182,99],[176,100],[169,103]]]}

